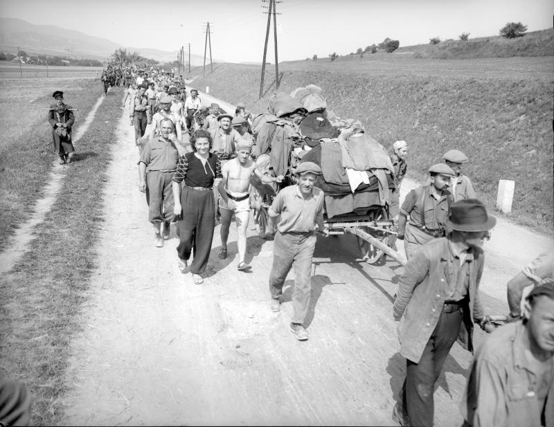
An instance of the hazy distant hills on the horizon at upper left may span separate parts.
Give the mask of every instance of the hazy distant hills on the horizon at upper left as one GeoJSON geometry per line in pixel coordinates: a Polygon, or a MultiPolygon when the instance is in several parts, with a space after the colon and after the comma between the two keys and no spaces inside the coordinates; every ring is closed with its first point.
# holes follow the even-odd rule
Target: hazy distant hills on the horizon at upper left
{"type": "MultiPolygon", "coordinates": [[[[174,61],[177,51],[122,46],[109,39],[94,37],[80,31],[52,25],[30,24],[23,19],[0,18],[0,51],[17,54],[17,48],[28,55],[59,55],[104,61],[118,48],[137,51],[143,57],[160,62],[174,61]]],[[[190,55],[193,65],[204,61],[201,55],[190,55]]]]}

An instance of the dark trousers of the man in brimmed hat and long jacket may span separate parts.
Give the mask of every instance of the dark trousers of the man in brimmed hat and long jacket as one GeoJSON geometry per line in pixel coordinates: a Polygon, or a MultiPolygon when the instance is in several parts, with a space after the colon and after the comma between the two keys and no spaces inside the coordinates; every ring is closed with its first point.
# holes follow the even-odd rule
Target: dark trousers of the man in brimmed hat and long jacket
{"type": "Polygon", "coordinates": [[[435,414],[435,383],[445,360],[456,342],[462,325],[462,311],[440,314],[419,363],[406,361],[406,380],[402,385],[402,403],[411,426],[432,427],[435,414]]]}

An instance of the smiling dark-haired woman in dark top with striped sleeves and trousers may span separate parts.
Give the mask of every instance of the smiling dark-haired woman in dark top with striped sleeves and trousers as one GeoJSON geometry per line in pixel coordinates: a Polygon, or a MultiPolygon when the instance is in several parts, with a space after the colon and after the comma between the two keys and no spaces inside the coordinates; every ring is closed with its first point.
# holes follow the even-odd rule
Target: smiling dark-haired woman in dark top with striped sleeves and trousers
{"type": "Polygon", "coordinates": [[[190,138],[193,152],[179,158],[177,171],[173,176],[173,199],[177,221],[179,246],[179,270],[193,273],[195,284],[203,282],[201,273],[206,270],[212,247],[215,228],[215,203],[213,185],[222,179],[221,161],[211,153],[213,140],[206,129],[198,129],[190,138]],[[182,213],[181,213],[182,211],[182,213]],[[188,266],[190,252],[195,252],[193,262],[188,266]]]}

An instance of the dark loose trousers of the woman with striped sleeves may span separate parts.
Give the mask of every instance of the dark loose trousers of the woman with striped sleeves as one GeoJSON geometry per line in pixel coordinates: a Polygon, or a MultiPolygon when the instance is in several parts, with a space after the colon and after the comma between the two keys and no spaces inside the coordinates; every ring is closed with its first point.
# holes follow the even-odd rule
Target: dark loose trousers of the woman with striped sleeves
{"type": "Polygon", "coordinates": [[[204,273],[210,257],[215,228],[213,191],[193,190],[184,186],[181,188],[181,206],[182,217],[177,221],[177,255],[181,260],[188,260],[194,249],[195,257],[189,270],[195,274],[204,273]]]}

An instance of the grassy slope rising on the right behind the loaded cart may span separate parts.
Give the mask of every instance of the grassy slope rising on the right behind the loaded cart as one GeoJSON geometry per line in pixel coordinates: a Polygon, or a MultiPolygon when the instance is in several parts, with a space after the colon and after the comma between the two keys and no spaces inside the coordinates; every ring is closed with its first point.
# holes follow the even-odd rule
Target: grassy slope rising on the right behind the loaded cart
{"type": "MultiPolygon", "coordinates": [[[[552,232],[552,57],[341,60],[280,64],[280,91],[317,84],[330,109],[361,120],[385,147],[408,141],[409,175],[415,179],[423,179],[448,149],[460,149],[470,158],[465,173],[488,208],[494,208],[499,179],[511,179],[515,197],[508,217],[552,232]]],[[[275,89],[273,68],[268,68],[266,98],[275,89]]],[[[193,85],[265,111],[259,82],[260,66],[217,64],[212,75],[193,85]]]]}

